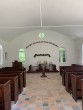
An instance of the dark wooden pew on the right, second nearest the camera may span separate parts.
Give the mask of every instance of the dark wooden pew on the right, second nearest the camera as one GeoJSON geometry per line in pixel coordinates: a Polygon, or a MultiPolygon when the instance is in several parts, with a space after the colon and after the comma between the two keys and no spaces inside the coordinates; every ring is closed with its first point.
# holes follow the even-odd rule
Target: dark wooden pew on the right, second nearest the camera
{"type": "Polygon", "coordinates": [[[71,75],[72,97],[74,98],[75,101],[77,101],[78,98],[82,98],[81,79],[83,79],[83,75],[81,74],[71,75]]]}

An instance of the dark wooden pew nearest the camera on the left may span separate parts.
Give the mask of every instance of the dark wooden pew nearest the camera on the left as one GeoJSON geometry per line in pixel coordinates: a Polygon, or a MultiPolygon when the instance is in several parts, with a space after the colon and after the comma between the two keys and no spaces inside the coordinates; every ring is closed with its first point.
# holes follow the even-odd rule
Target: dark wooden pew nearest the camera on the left
{"type": "Polygon", "coordinates": [[[11,110],[10,80],[0,80],[0,110],[11,110]]]}

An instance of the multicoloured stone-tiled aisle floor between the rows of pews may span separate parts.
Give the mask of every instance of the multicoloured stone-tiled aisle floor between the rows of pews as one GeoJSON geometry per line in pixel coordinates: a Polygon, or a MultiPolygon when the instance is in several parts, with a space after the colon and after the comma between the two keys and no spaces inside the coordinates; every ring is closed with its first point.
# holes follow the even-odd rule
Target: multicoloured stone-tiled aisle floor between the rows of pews
{"type": "Polygon", "coordinates": [[[13,110],[82,110],[81,103],[65,91],[59,73],[46,75],[27,74],[27,87],[13,110]]]}

